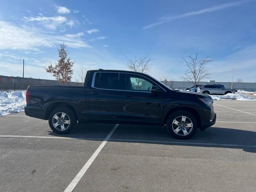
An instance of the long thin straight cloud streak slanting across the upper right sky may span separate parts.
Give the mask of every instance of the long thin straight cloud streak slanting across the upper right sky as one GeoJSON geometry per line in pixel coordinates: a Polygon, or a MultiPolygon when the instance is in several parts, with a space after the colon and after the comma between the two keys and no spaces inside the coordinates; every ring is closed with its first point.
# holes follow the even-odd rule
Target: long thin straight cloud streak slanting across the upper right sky
{"type": "Polygon", "coordinates": [[[181,15],[165,16],[165,17],[159,18],[158,20],[160,20],[160,21],[158,21],[158,22],[155,22],[155,23],[149,24],[147,26],[144,26],[143,29],[152,28],[152,27],[155,27],[155,26],[158,26],[158,25],[161,25],[161,24],[164,24],[164,23],[168,23],[168,22],[171,22],[173,20],[180,19],[180,18],[186,18],[186,17],[190,17],[190,16],[194,16],[194,15],[200,15],[200,14],[205,14],[205,13],[208,13],[208,12],[223,10],[223,9],[226,9],[226,8],[229,8],[229,7],[238,6],[238,5],[240,5],[242,3],[245,3],[245,2],[248,2],[248,1],[249,0],[243,0],[243,1],[237,1],[237,2],[232,2],[232,3],[225,3],[225,4],[212,6],[210,8],[205,8],[205,9],[198,10],[198,11],[187,12],[187,13],[181,14],[181,15]]]}

